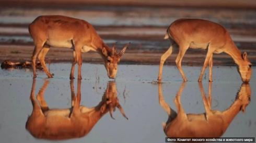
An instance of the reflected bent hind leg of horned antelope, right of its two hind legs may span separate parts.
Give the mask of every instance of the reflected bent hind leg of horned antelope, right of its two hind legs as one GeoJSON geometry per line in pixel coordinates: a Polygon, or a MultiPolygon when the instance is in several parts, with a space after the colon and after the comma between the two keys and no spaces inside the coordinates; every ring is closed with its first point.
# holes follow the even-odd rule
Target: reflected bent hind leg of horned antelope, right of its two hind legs
{"type": "Polygon", "coordinates": [[[40,91],[39,91],[38,94],[37,94],[37,100],[38,100],[38,102],[39,102],[39,104],[40,104],[40,106],[41,106],[42,112],[45,112],[45,111],[48,111],[48,110],[49,110],[49,107],[48,107],[47,103],[45,102],[44,96],[43,96],[45,89],[46,89],[47,86],[49,85],[49,82],[50,82],[50,81],[45,80],[45,81],[44,81],[44,84],[43,84],[43,86],[42,86],[42,88],[40,89],[40,91]]]}

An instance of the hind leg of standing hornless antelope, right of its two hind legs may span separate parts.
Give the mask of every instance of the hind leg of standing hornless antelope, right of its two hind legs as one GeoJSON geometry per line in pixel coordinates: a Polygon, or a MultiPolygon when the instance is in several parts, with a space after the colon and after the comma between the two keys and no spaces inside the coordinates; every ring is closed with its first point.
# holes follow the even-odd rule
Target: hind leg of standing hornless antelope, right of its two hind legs
{"type": "Polygon", "coordinates": [[[182,58],[183,58],[185,52],[188,49],[189,49],[189,45],[185,45],[185,44],[184,45],[180,45],[180,47],[179,47],[179,54],[178,54],[178,56],[177,56],[177,58],[175,60],[176,65],[177,65],[177,67],[178,67],[178,69],[180,71],[180,74],[181,74],[182,78],[183,78],[183,81],[188,81],[188,80],[185,77],[185,74],[183,73],[183,70],[181,68],[181,61],[182,61],[182,58]]]}

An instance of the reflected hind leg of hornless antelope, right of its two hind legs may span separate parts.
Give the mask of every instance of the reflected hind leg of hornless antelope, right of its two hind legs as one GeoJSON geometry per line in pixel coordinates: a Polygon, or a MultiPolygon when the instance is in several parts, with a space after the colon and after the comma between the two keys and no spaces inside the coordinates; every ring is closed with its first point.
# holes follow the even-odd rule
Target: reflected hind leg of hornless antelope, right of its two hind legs
{"type": "Polygon", "coordinates": [[[181,93],[182,93],[185,85],[186,85],[186,82],[182,82],[180,90],[178,91],[178,93],[177,93],[177,95],[174,99],[174,103],[176,104],[176,108],[177,108],[177,112],[178,112],[177,118],[179,118],[180,120],[182,120],[184,118],[187,119],[187,114],[185,113],[184,109],[182,108],[182,105],[181,105],[181,102],[180,102],[180,96],[181,96],[181,93]]]}

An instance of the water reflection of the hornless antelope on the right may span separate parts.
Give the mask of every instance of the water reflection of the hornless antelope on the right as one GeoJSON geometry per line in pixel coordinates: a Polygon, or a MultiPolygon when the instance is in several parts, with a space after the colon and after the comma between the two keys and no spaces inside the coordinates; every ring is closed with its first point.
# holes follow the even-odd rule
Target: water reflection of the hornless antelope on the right
{"type": "Polygon", "coordinates": [[[225,111],[211,110],[212,82],[209,82],[208,100],[205,97],[202,83],[199,82],[206,113],[186,114],[180,103],[180,95],[185,86],[182,83],[174,103],[178,113],[172,110],[162,97],[161,84],[158,86],[159,103],[168,113],[168,121],[162,123],[167,137],[221,137],[235,116],[242,110],[245,113],[246,106],[250,103],[251,88],[249,84],[242,84],[234,103],[225,111]]]}

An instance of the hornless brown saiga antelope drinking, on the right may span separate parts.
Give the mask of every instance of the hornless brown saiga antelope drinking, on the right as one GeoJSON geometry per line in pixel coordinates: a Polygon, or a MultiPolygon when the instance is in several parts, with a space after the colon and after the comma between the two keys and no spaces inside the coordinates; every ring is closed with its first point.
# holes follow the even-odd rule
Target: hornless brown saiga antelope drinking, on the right
{"type": "Polygon", "coordinates": [[[209,81],[213,81],[213,53],[219,54],[222,52],[227,53],[234,59],[242,81],[250,81],[252,64],[247,58],[247,53],[244,52],[241,54],[235,43],[232,41],[227,29],[222,25],[203,19],[182,18],[172,22],[168,27],[164,39],[168,38],[171,45],[169,49],[161,56],[158,80],[161,80],[162,78],[162,67],[166,59],[171,55],[172,49],[177,49],[179,47],[179,53],[175,62],[183,81],[188,80],[181,68],[181,61],[185,52],[189,48],[207,50],[204,66],[198,79],[199,82],[202,81],[202,77],[207,65],[209,65],[209,81]]]}

